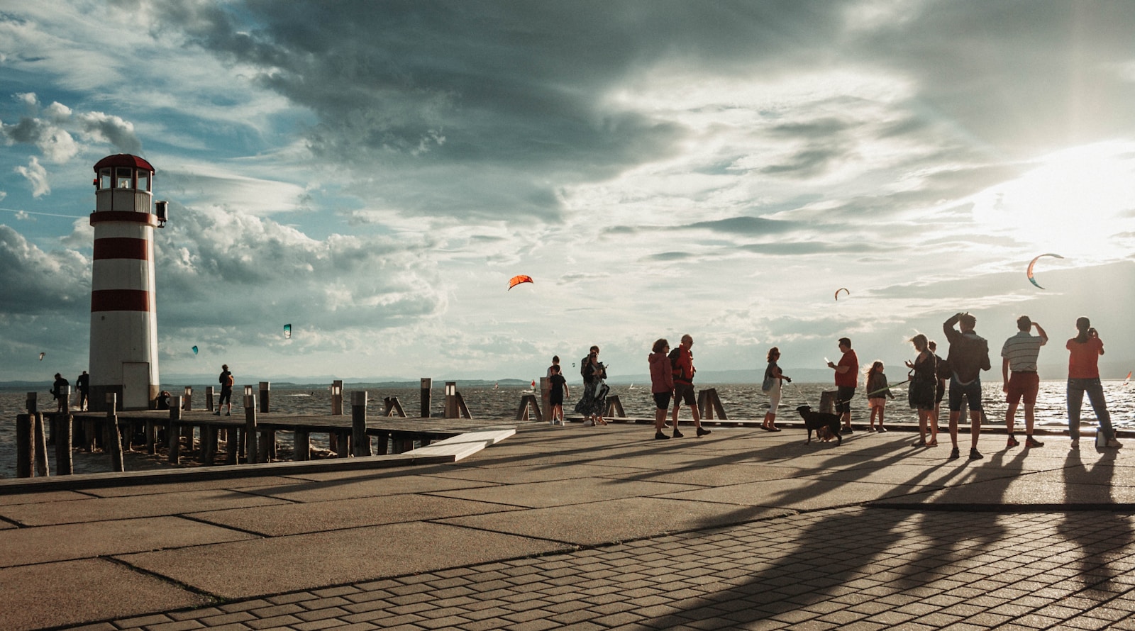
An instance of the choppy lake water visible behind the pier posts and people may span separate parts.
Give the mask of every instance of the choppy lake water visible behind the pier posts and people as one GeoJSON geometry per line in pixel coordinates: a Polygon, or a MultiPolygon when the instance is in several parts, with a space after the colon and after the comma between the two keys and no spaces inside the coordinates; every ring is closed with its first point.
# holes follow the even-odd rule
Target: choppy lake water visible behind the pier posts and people
{"type": "MultiPolygon", "coordinates": [[[[768,407],[768,397],[762,394],[759,384],[723,384],[723,385],[697,385],[698,389],[713,387],[717,389],[725,413],[730,419],[760,419],[768,407]]],[[[178,393],[180,387],[166,386],[166,389],[178,393]]],[[[351,412],[351,388],[344,386],[344,413],[351,412]]],[[[784,386],[784,394],[781,398],[779,417],[782,420],[793,420],[794,407],[802,403],[818,406],[819,396],[823,390],[834,389],[830,384],[790,384],[784,386]]],[[[1036,426],[1049,430],[1066,430],[1067,403],[1066,381],[1042,381],[1041,390],[1036,399],[1036,426]]],[[[1108,410],[1111,412],[1112,423],[1118,428],[1135,429],[1135,385],[1124,386],[1123,381],[1104,381],[1104,395],[1108,399],[1108,410]]],[[[382,398],[396,396],[402,403],[403,410],[410,415],[418,414],[421,409],[421,392],[418,388],[367,388],[368,392],[368,414],[380,415],[382,413],[382,398]]],[[[579,386],[572,387],[572,393],[578,395],[579,386]]],[[[649,387],[642,386],[612,386],[612,394],[616,394],[623,404],[623,409],[629,417],[654,418],[654,399],[650,396],[649,387]]],[[[194,407],[203,407],[204,388],[194,388],[194,407]]],[[[461,389],[461,395],[469,406],[474,419],[512,419],[520,406],[521,397],[529,394],[528,390],[518,388],[469,388],[461,389]]],[[[888,424],[917,424],[916,413],[907,406],[906,388],[899,386],[894,389],[896,399],[888,403],[888,424]]],[[[990,381],[983,385],[983,405],[990,422],[997,427],[1003,427],[1004,420],[1004,396],[1001,393],[1000,381],[990,381]]],[[[0,392],[0,478],[11,478],[16,474],[16,415],[23,413],[26,395],[23,392],[0,392]]],[[[239,396],[234,398],[239,399],[239,396]]],[[[572,409],[578,396],[564,404],[564,412],[568,417],[573,415],[572,409]]],[[[272,388],[271,410],[280,413],[295,414],[330,414],[331,395],[327,387],[304,387],[304,388],[272,388]]],[[[443,388],[435,388],[431,394],[431,414],[442,415],[445,404],[445,393],[443,388]]],[[[53,409],[53,402],[45,393],[40,395],[40,407],[53,409]]],[[[851,402],[852,422],[865,422],[869,418],[867,411],[867,399],[863,396],[863,389],[851,402]]],[[[944,428],[944,405],[943,424],[944,428]]],[[[689,420],[689,411],[683,410],[683,420],[689,420]]],[[[1095,414],[1084,399],[1084,411],[1081,422],[1084,427],[1095,426],[1095,414]]],[[[1017,426],[1023,430],[1023,413],[1017,413],[1017,426]]],[[[312,436],[314,447],[325,446],[319,444],[319,437],[312,436]]],[[[52,454],[53,449],[49,448],[52,454]]],[[[106,458],[100,457],[98,463],[85,465],[76,458],[76,472],[106,471],[109,464],[102,464],[106,458]]],[[[52,463],[52,471],[54,471],[52,463]]]]}

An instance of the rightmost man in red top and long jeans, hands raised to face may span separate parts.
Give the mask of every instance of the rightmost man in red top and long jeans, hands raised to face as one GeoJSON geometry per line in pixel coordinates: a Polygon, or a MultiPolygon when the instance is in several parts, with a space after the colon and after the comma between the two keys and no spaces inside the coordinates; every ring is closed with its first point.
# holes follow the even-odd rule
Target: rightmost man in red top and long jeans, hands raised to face
{"type": "MultiPolygon", "coordinates": [[[[1087,318],[1076,319],[1076,337],[1068,340],[1065,347],[1068,356],[1068,435],[1071,436],[1071,448],[1079,448],[1079,411],[1084,405],[1084,393],[1092,403],[1095,418],[1100,421],[1104,447],[1123,447],[1116,440],[1116,430],[1111,428],[1111,414],[1108,402],[1103,398],[1103,386],[1100,384],[1100,355],[1103,354],[1103,342],[1100,334],[1092,327],[1087,318]]],[[[1096,443],[1099,445],[1099,443],[1096,443]]]]}

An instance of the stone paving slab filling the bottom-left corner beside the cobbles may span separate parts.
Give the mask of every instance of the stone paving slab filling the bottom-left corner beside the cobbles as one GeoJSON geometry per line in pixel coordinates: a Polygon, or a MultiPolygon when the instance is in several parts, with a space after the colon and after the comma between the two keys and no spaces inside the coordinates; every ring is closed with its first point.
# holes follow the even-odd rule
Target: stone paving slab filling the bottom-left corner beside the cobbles
{"type": "Polygon", "coordinates": [[[118,563],[89,558],[0,569],[0,629],[20,631],[205,605],[208,599],[118,563]]]}

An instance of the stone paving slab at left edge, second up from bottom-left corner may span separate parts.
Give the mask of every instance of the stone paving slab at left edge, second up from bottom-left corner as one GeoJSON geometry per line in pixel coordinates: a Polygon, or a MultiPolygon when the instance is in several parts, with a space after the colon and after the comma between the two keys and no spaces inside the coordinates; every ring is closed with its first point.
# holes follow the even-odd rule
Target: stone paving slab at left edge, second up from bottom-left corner
{"type": "Polygon", "coordinates": [[[0,537],[0,567],[250,538],[227,528],[166,516],[22,528],[0,537]]]}

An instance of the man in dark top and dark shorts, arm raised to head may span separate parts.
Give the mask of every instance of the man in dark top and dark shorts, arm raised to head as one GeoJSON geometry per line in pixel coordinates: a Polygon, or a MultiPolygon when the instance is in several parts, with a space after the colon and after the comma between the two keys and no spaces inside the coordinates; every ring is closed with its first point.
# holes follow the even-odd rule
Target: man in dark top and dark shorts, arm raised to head
{"type": "Polygon", "coordinates": [[[969,460],[981,460],[985,456],[977,451],[977,438],[982,432],[982,371],[989,370],[990,347],[984,337],[974,333],[977,318],[969,313],[955,313],[942,323],[945,338],[950,342],[950,353],[945,361],[950,362],[953,373],[950,377],[950,460],[960,457],[958,452],[958,419],[961,417],[961,399],[969,405],[969,460]],[[953,326],[958,325],[958,329],[953,326]]]}

